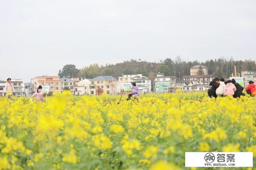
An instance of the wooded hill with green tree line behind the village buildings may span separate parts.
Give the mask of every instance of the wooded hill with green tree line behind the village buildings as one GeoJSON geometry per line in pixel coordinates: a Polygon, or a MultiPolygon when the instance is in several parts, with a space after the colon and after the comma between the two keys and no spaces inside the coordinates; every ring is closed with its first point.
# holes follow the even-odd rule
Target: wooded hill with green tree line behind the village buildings
{"type": "MultiPolygon", "coordinates": [[[[236,66],[237,74],[241,73],[241,70],[256,71],[256,63],[251,60],[234,60],[232,57],[227,59],[220,57],[215,60],[207,60],[205,62],[184,61],[180,56],[173,59],[166,58],[159,63],[152,63],[146,61],[127,60],[123,63],[101,65],[90,64],[82,69],[76,68],[74,64],[67,64],[63,66],[62,70],[59,70],[58,75],[62,78],[95,78],[97,76],[112,76],[118,78],[122,74],[142,74],[150,79],[154,80],[156,73],[161,72],[166,76],[176,76],[182,78],[183,75],[190,75],[190,67],[195,65],[203,65],[208,67],[208,74],[213,74],[213,77],[228,78],[234,72],[234,66],[236,66]]],[[[200,69],[198,74],[203,74],[200,69]]],[[[153,81],[152,81],[153,83],[153,81]]]]}

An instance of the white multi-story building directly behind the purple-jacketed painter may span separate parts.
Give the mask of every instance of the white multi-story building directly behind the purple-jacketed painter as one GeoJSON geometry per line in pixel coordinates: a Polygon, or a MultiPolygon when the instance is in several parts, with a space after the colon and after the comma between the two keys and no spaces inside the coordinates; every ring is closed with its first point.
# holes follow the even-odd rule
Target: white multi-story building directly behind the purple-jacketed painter
{"type": "Polygon", "coordinates": [[[118,77],[118,80],[120,82],[120,91],[123,90],[123,84],[135,82],[136,85],[141,85],[143,92],[151,92],[151,79],[142,76],[142,74],[125,74],[123,77],[118,77]]]}

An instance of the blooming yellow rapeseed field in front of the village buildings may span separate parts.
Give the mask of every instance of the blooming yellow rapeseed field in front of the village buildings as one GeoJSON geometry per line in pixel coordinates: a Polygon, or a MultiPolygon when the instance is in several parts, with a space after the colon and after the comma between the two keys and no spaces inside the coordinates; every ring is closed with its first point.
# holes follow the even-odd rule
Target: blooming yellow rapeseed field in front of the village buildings
{"type": "Polygon", "coordinates": [[[185,152],[256,156],[256,98],[119,97],[0,98],[0,169],[191,169],[185,152]]]}

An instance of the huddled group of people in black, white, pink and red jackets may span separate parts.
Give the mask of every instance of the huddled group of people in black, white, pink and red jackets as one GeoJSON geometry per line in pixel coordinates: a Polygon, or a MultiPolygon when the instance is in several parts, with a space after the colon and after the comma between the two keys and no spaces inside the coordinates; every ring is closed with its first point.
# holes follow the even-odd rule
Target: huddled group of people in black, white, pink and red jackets
{"type": "MultiPolygon", "coordinates": [[[[240,98],[240,96],[245,95],[243,90],[244,88],[240,84],[236,83],[234,78],[232,80],[225,81],[224,78],[219,79],[216,77],[210,82],[208,95],[210,98],[229,95],[232,95],[234,98],[240,98]]],[[[249,81],[249,86],[246,87],[245,91],[251,96],[256,95],[256,88],[253,81],[249,81]]]]}

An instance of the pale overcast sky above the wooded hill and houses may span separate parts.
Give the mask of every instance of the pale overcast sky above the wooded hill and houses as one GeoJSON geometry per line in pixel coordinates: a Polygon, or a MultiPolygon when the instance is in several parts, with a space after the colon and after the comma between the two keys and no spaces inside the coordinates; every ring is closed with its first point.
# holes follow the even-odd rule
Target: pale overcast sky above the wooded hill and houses
{"type": "MultiPolygon", "coordinates": [[[[0,0],[0,80],[65,64],[256,59],[256,1],[0,0]]],[[[132,69],[132,68],[131,68],[132,69]]]]}

